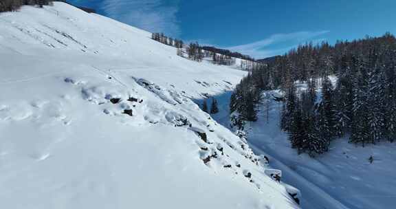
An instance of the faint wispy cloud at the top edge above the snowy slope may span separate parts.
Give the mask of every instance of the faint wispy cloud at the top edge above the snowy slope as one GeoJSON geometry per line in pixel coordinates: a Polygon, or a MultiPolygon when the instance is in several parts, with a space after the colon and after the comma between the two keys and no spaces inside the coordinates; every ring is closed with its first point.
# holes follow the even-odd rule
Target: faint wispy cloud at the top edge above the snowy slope
{"type": "Polygon", "coordinates": [[[104,0],[101,9],[108,17],[143,30],[170,36],[180,33],[176,17],[179,0],[104,0]]]}

